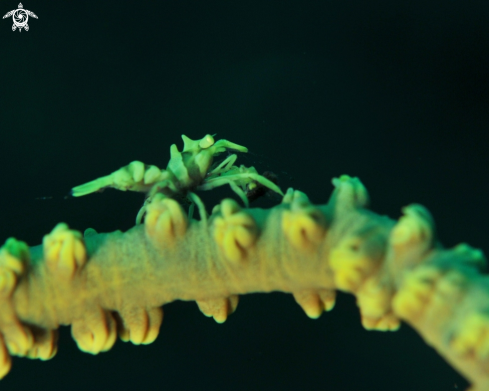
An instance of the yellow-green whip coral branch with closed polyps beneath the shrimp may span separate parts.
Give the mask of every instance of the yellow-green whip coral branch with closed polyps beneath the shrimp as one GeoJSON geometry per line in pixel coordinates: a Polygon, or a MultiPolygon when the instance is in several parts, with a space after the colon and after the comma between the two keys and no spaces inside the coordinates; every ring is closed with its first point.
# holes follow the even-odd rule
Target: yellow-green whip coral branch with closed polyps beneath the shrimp
{"type": "Polygon", "coordinates": [[[394,331],[404,320],[473,383],[489,389],[489,285],[483,254],[444,249],[420,205],[393,221],[366,209],[357,178],[333,180],[326,205],[289,189],[280,205],[241,208],[224,200],[207,219],[187,217],[156,193],[144,224],[85,236],[59,224],[42,246],[8,239],[0,251],[0,376],[10,356],[50,359],[56,329],[72,326],[79,348],[97,354],[117,334],[151,343],[161,306],[196,301],[221,323],[239,295],[293,294],[311,318],[354,294],[366,329],[394,331]]]}

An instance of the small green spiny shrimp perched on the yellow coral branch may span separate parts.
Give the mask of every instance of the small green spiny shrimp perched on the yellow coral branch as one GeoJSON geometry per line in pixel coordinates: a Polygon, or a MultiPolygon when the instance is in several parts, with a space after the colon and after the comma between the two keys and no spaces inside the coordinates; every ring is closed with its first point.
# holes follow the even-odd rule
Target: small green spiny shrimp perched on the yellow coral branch
{"type": "Polygon", "coordinates": [[[110,175],[74,187],[71,195],[80,197],[103,191],[106,188],[146,193],[144,204],[136,217],[136,224],[142,222],[147,206],[156,195],[158,198],[168,197],[179,202],[189,201],[190,216],[194,204],[197,205],[203,220],[207,215],[202,201],[194,193],[196,190],[211,190],[228,184],[246,206],[248,206],[246,193],[259,185],[281,196],[284,195],[275,183],[258,174],[254,167],[235,166],[236,154],[229,155],[216,167],[213,167],[214,157],[220,153],[248,152],[248,148],[228,140],[214,141],[214,137],[209,134],[200,140],[191,140],[185,135],[182,135],[182,139],[183,150],[181,152],[175,144],[170,147],[170,161],[166,169],[136,160],[110,175]]]}

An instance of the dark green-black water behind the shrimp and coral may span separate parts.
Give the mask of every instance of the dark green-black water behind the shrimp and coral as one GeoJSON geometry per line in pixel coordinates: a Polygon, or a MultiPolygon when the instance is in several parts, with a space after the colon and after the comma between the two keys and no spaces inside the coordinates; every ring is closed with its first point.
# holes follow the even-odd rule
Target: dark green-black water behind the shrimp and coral
{"type": "MultiPolygon", "coordinates": [[[[489,3],[36,1],[0,20],[0,240],[56,223],[131,227],[140,194],[64,199],[132,160],[165,167],[181,134],[249,147],[238,162],[324,203],[358,176],[372,209],[433,213],[447,246],[486,252],[489,3]],[[52,197],[52,198],[51,198],[52,197]]],[[[17,1],[0,1],[0,14],[17,1]]],[[[208,209],[229,190],[206,197],[208,209]],[[212,200],[215,197],[215,200],[212,200]]],[[[259,206],[273,205],[262,200],[259,206]]],[[[462,390],[408,326],[367,332],[354,299],[308,319],[288,294],[241,298],[224,325],[165,306],[149,346],[96,357],[62,328],[48,362],[14,359],[3,390],[462,390]]]]}

